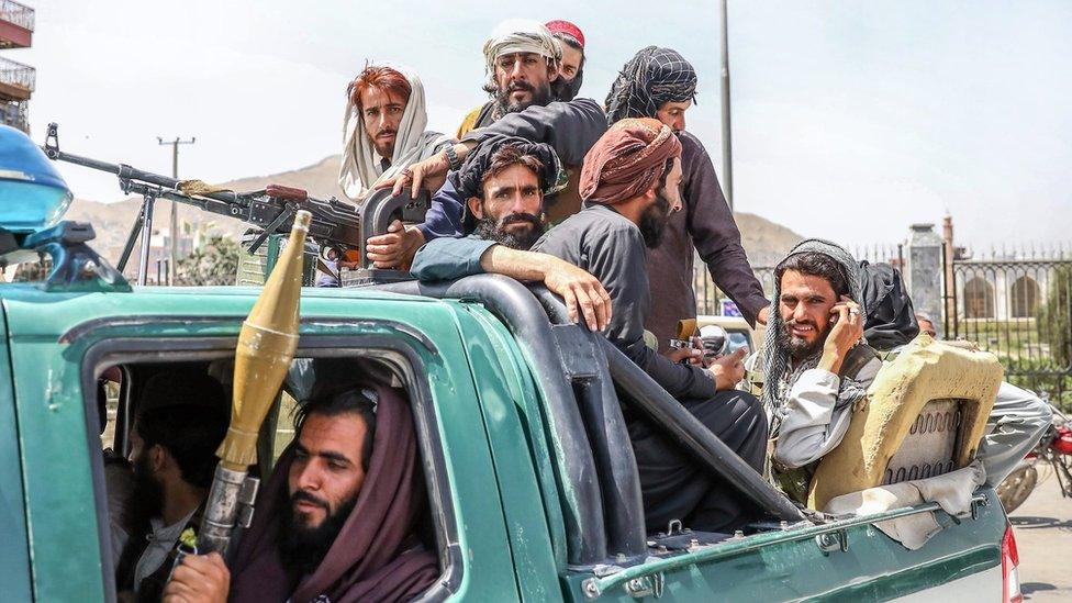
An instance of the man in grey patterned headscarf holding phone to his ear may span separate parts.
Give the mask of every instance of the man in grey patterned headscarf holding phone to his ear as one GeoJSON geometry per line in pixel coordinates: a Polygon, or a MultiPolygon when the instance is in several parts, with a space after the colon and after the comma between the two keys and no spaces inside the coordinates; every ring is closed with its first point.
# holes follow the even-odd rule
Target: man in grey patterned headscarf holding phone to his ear
{"type": "Polygon", "coordinates": [[[816,238],[774,268],[763,405],[774,439],[771,474],[799,502],[882,367],[863,339],[859,269],[842,247],[816,238]]]}

